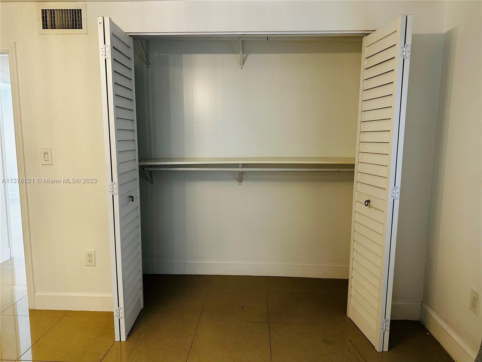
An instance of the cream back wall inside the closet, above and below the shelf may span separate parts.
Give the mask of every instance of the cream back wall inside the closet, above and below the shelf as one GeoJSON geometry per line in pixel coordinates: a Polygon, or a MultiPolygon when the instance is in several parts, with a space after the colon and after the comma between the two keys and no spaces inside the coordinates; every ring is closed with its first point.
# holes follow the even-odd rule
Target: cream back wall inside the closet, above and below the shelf
{"type": "MultiPolygon", "coordinates": [[[[354,157],[361,40],[135,42],[139,157],[354,157]]],[[[144,272],[348,278],[353,173],[141,175],[144,272]]]]}

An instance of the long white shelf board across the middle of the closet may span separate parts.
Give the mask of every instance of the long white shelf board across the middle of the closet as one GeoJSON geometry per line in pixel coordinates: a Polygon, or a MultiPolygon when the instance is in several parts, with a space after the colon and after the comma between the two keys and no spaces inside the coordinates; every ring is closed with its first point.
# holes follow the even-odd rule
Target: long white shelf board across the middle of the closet
{"type": "Polygon", "coordinates": [[[228,164],[289,164],[289,165],[354,165],[353,157],[231,157],[231,158],[152,158],[139,161],[140,166],[160,165],[228,165],[228,164]]]}

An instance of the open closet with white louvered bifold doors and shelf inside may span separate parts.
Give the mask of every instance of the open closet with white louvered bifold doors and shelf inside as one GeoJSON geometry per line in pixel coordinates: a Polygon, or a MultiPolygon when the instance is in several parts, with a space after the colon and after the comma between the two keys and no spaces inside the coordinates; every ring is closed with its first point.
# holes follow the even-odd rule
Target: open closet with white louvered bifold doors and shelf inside
{"type": "Polygon", "coordinates": [[[319,257],[340,278],[323,258],[349,253],[348,317],[388,349],[411,29],[127,35],[98,17],[116,340],[143,268],[323,277],[296,263],[319,257]]]}

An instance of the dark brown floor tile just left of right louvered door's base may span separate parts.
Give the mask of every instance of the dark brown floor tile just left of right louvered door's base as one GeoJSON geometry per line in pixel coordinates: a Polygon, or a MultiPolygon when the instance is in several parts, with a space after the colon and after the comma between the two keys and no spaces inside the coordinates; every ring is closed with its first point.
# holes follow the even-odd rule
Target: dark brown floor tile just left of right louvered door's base
{"type": "Polygon", "coordinates": [[[268,292],[269,321],[277,323],[336,323],[325,293],[268,292]]]}

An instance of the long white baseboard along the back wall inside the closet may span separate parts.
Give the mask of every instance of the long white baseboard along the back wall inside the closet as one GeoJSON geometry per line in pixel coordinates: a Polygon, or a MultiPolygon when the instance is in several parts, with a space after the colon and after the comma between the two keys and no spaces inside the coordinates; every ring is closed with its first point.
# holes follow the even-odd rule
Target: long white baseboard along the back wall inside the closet
{"type": "Polygon", "coordinates": [[[348,278],[348,264],[274,263],[208,260],[144,260],[146,274],[265,275],[348,278]]]}

